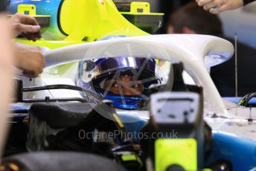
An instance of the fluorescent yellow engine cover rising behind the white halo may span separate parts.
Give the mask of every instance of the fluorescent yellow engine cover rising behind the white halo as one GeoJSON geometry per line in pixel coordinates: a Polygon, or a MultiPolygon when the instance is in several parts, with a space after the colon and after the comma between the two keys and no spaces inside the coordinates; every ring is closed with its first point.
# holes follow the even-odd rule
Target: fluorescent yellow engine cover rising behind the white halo
{"type": "MultiPolygon", "coordinates": [[[[31,4],[20,4],[20,12],[36,13],[31,4]],[[33,9],[32,9],[33,8],[33,9]]],[[[36,42],[17,39],[28,45],[50,49],[84,42],[94,42],[105,36],[144,36],[149,33],[132,25],[115,7],[112,0],[65,0],[60,7],[60,29],[67,35],[61,41],[39,39],[36,42]]]]}

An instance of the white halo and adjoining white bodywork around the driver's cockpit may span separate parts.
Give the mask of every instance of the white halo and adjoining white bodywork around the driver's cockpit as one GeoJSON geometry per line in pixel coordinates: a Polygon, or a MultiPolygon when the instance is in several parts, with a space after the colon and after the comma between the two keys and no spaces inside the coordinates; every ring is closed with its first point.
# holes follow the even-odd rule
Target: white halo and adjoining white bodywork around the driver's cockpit
{"type": "MultiPolygon", "coordinates": [[[[232,57],[234,47],[230,42],[216,36],[205,35],[158,35],[138,36],[124,39],[112,39],[98,42],[71,45],[54,51],[45,51],[46,68],[42,74],[45,84],[74,84],[77,65],[70,65],[64,73],[60,68],[52,67],[81,59],[98,59],[102,57],[147,57],[179,60],[183,62],[185,71],[204,89],[205,120],[217,131],[231,132],[247,138],[255,138],[255,121],[248,123],[248,109],[238,108],[234,103],[223,102],[214,86],[208,71],[211,66],[225,62],[232,57]],[[65,77],[65,79],[63,78],[65,77]],[[56,80],[58,78],[58,80],[56,80]],[[69,78],[69,80],[67,80],[69,78]],[[228,108],[227,108],[228,107],[228,108]],[[227,111],[228,109],[228,111],[227,111]],[[213,118],[212,114],[217,114],[213,118]],[[245,115],[247,114],[247,115],[245,115]],[[240,124],[240,125],[239,125],[240,124]],[[243,126],[241,126],[241,124],[243,126]]],[[[36,81],[38,82],[38,81],[36,81]]],[[[36,86],[39,86],[36,84],[36,86]]],[[[74,91],[50,91],[53,97],[77,96],[74,91]]],[[[40,97],[43,93],[35,92],[30,97],[40,97]]],[[[255,109],[253,109],[255,110],[255,109]]],[[[253,112],[253,111],[252,111],[253,112]]],[[[147,112],[131,112],[147,119],[147,112]]],[[[255,112],[256,114],[256,112],[255,112]]],[[[256,118],[252,114],[252,118],[256,118]]]]}

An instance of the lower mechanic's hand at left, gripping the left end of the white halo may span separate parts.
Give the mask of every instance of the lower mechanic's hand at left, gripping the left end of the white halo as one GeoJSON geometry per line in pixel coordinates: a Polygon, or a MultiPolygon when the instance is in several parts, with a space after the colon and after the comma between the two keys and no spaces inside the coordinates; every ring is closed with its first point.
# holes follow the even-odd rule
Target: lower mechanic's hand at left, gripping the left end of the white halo
{"type": "Polygon", "coordinates": [[[41,49],[21,43],[16,43],[14,46],[16,48],[16,53],[14,54],[16,67],[22,69],[26,77],[38,77],[45,66],[45,59],[42,56],[41,49]]]}

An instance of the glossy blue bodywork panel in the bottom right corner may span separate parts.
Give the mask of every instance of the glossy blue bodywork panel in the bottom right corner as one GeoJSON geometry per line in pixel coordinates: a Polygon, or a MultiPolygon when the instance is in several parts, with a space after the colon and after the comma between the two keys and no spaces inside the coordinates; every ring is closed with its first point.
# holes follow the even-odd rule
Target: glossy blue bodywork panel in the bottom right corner
{"type": "Polygon", "coordinates": [[[211,155],[206,164],[230,161],[233,170],[252,170],[256,167],[256,142],[224,132],[213,132],[211,155]]]}

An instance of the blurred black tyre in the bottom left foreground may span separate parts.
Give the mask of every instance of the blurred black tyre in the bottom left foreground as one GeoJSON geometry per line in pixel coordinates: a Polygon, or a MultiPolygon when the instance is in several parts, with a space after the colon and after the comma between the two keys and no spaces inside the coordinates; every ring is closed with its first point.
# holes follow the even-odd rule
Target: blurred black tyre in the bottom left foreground
{"type": "Polygon", "coordinates": [[[33,152],[13,155],[4,158],[0,168],[1,170],[19,171],[124,170],[108,158],[80,152],[33,152]]]}

